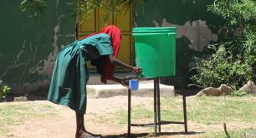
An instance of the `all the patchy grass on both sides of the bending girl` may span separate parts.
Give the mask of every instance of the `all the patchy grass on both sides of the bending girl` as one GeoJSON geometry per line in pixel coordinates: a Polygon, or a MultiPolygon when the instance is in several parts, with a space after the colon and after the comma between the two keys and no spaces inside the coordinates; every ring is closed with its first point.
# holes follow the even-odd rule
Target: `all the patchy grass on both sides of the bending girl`
{"type": "MultiPolygon", "coordinates": [[[[132,123],[153,122],[153,98],[143,104],[132,106],[132,123]]],[[[188,130],[202,132],[197,137],[225,137],[223,121],[227,123],[228,133],[236,137],[256,137],[256,96],[202,96],[187,97],[188,130]],[[191,124],[190,124],[191,123],[191,124]],[[193,128],[192,128],[193,127],[193,128]]],[[[25,121],[37,121],[42,118],[50,119],[58,116],[54,107],[40,102],[8,102],[0,103],[0,134],[12,135],[12,126],[23,124],[25,121]]],[[[87,117],[91,121],[110,126],[125,127],[127,111],[91,113],[87,117]],[[115,124],[113,124],[115,121],[115,124]]],[[[161,120],[183,121],[182,98],[161,98],[161,120]]],[[[172,131],[181,130],[183,126],[171,127],[172,131]]],[[[163,127],[164,128],[164,127],[163,127]]],[[[150,130],[151,131],[151,130],[150,130]]],[[[170,131],[170,130],[169,130],[170,131]]]]}

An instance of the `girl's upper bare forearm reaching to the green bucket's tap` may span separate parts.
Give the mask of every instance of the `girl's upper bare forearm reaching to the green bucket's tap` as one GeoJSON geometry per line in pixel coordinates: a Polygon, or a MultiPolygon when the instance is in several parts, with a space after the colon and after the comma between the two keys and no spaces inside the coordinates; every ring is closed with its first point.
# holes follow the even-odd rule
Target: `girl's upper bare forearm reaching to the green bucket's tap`
{"type": "Polygon", "coordinates": [[[110,58],[110,62],[112,64],[114,64],[115,66],[125,67],[128,70],[134,71],[136,73],[141,73],[141,68],[140,67],[132,67],[128,64],[125,64],[124,62],[121,62],[120,60],[116,59],[113,55],[110,55],[109,58],[110,58]]]}

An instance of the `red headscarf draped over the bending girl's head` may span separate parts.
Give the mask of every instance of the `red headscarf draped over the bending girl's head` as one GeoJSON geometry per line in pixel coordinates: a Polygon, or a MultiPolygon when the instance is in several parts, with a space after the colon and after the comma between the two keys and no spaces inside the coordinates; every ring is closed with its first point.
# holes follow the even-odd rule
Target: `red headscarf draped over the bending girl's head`
{"type": "MultiPolygon", "coordinates": [[[[90,34],[88,36],[82,37],[81,39],[84,39],[99,33],[105,33],[110,36],[110,40],[113,47],[113,55],[115,58],[117,58],[118,51],[120,48],[120,40],[121,40],[120,29],[118,27],[115,27],[114,25],[110,25],[110,26],[104,27],[101,32],[90,34]]],[[[101,81],[103,83],[106,83],[107,80],[112,80],[112,77],[114,75],[115,65],[110,63],[110,58],[105,58],[105,61],[103,64],[104,65],[102,65],[103,69],[102,69],[101,81]]]]}

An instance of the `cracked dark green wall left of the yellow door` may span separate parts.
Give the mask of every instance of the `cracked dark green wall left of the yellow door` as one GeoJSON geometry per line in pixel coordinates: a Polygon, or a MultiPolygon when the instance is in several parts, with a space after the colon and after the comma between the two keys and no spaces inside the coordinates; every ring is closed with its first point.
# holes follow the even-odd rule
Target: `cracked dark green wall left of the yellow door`
{"type": "Polygon", "coordinates": [[[22,0],[0,1],[0,80],[16,92],[48,86],[59,48],[74,41],[75,0],[46,0],[35,22],[20,12],[22,0]]]}

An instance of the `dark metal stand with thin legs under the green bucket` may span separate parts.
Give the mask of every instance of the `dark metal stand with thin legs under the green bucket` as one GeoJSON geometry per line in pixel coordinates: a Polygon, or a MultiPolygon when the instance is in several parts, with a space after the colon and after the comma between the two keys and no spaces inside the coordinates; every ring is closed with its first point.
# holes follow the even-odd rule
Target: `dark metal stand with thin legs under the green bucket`
{"type": "Polygon", "coordinates": [[[131,90],[128,90],[128,137],[131,136],[131,126],[153,126],[154,127],[154,136],[157,135],[157,126],[158,132],[161,133],[161,125],[167,124],[182,124],[184,125],[185,134],[187,134],[187,104],[186,104],[186,92],[184,86],[182,86],[182,101],[183,101],[183,116],[184,121],[161,121],[161,100],[160,100],[160,78],[154,78],[154,123],[149,124],[131,124],[131,90]]]}

